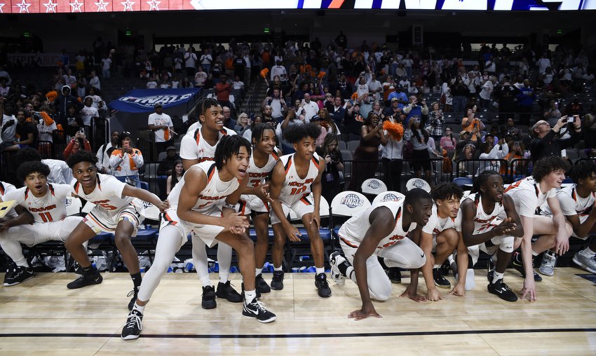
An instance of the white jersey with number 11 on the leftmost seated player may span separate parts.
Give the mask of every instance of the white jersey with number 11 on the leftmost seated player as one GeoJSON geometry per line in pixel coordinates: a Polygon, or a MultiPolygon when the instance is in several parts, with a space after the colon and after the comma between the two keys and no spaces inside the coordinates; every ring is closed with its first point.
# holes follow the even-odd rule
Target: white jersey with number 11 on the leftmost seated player
{"type": "Polygon", "coordinates": [[[6,193],[2,200],[16,200],[17,204],[27,209],[36,223],[44,223],[64,219],[66,214],[66,197],[70,195],[68,184],[50,184],[42,197],[36,197],[24,186],[6,193]]]}

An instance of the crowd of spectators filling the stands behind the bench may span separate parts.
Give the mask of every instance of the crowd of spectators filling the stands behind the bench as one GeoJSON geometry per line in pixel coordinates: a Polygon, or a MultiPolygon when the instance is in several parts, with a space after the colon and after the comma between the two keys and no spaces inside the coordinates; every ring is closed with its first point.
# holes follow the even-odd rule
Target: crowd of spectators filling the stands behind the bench
{"type": "MultiPolygon", "coordinates": [[[[506,170],[499,161],[565,156],[565,149],[574,147],[580,149],[578,157],[593,155],[596,107],[583,103],[581,95],[591,95],[594,75],[583,50],[560,45],[536,53],[527,46],[511,50],[506,44],[483,44],[474,62],[433,58],[424,50],[391,50],[376,42],[349,48],[344,39],[338,36],[327,46],[318,39],[278,45],[232,39],[227,46],[165,45],[146,52],[104,45],[98,38],[93,52],[81,50],[72,58],[64,50],[53,80],[39,90],[25,90],[18,78],[0,68],[1,149],[31,146],[65,159],[106,144],[104,153],[139,158],[114,160],[119,170],[106,160],[102,169],[138,182],[143,165],[138,149],[125,149],[114,138],[109,149],[108,142],[93,142],[92,121],[108,110],[101,82],[117,75],[143,78],[147,88],[203,88],[224,107],[226,128],[250,137],[255,123],[271,123],[284,153],[292,151],[283,137],[288,126],[317,122],[321,151],[337,142],[328,156],[342,169],[344,160],[354,161],[351,172],[339,170],[339,175],[341,184],[344,173],[351,176],[348,186],[355,190],[377,170],[389,187],[400,189],[404,160],[412,160],[409,170],[433,185],[439,160],[473,176],[485,167],[506,170]],[[257,103],[260,110],[247,112],[241,100],[261,78],[266,97],[257,103]],[[571,122],[574,117],[576,123],[571,122]],[[329,144],[327,135],[334,137],[329,144]],[[353,141],[359,144],[348,148],[342,143],[353,141]],[[52,147],[57,143],[62,144],[60,156],[52,147]],[[456,164],[479,158],[495,163],[473,168],[456,164]]],[[[255,88],[251,94],[259,97],[262,87],[255,88]]],[[[174,144],[165,137],[173,130],[171,119],[166,121],[151,121],[150,116],[148,122],[157,153],[174,144]]]]}

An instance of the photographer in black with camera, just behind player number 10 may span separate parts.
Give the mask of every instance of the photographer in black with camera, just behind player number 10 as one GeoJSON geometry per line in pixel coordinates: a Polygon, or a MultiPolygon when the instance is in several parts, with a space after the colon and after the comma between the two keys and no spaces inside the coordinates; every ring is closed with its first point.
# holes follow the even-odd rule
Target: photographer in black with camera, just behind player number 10
{"type": "Polygon", "coordinates": [[[328,202],[344,190],[344,159],[337,148],[337,135],[328,133],[325,142],[317,147],[317,154],[325,158],[325,172],[321,177],[321,195],[328,202]]]}

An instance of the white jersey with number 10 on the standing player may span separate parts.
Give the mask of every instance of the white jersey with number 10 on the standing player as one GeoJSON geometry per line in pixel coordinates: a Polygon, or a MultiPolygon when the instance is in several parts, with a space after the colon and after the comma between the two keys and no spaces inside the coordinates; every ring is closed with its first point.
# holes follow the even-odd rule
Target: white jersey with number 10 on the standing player
{"type": "Polygon", "coordinates": [[[309,163],[309,171],[306,177],[300,178],[294,164],[294,153],[281,156],[279,158],[285,169],[285,181],[281,187],[279,200],[287,206],[292,206],[298,200],[308,196],[311,193],[311,184],[319,174],[319,156],[315,152],[309,163]]]}

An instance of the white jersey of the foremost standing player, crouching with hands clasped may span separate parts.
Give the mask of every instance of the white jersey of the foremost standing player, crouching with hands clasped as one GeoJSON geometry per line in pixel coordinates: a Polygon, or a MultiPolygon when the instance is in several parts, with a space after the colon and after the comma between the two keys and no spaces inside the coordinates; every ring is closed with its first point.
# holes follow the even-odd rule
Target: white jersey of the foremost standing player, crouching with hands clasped
{"type": "MultiPolygon", "coordinates": [[[[207,185],[205,189],[201,191],[201,194],[198,196],[196,203],[192,210],[196,212],[206,212],[209,208],[214,204],[222,204],[224,200],[236,189],[240,184],[238,183],[238,179],[233,178],[228,182],[223,182],[222,179],[219,179],[219,174],[217,171],[217,167],[215,167],[215,163],[212,162],[202,162],[193,165],[190,170],[193,168],[198,168],[205,172],[207,175],[207,185]]],[[[187,172],[189,172],[188,170],[187,172]]],[[[180,200],[180,192],[182,191],[182,186],[184,186],[184,178],[187,176],[187,173],[184,173],[180,182],[178,182],[174,189],[170,192],[168,196],[168,200],[170,200],[170,205],[178,205],[178,201],[180,200]]]]}

